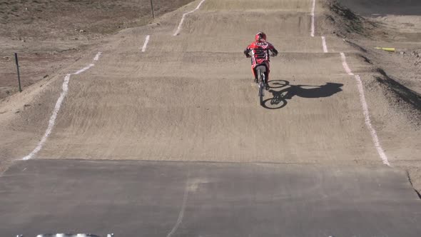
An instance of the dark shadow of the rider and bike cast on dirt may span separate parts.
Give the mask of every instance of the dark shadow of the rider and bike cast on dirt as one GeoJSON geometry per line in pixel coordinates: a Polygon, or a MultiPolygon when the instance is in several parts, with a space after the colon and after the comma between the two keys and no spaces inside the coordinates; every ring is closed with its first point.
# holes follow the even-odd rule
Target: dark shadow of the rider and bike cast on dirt
{"type": "Polygon", "coordinates": [[[270,92],[273,97],[263,101],[262,106],[266,109],[280,109],[288,104],[288,100],[294,96],[302,98],[322,98],[329,97],[342,91],[343,84],[326,83],[322,86],[292,85],[289,81],[274,80],[269,81],[270,92]]]}

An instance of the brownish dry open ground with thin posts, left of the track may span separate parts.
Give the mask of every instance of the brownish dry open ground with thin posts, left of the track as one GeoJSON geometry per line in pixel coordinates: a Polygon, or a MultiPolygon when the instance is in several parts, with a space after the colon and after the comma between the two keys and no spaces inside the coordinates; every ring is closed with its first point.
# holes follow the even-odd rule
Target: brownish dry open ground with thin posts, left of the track
{"type": "MultiPolygon", "coordinates": [[[[154,0],[156,16],[192,0],[154,0]]],[[[0,0],[0,99],[72,64],[104,36],[153,21],[150,0],[0,0]]],[[[105,40],[105,39],[104,39],[105,40]]]]}

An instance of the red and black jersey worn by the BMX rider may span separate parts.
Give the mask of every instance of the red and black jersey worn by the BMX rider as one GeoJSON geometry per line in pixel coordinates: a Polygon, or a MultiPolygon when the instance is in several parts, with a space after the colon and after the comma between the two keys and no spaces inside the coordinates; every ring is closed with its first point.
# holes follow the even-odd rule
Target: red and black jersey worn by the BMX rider
{"type": "Polygon", "coordinates": [[[250,56],[251,52],[251,64],[255,66],[270,61],[269,51],[271,51],[274,56],[278,54],[278,51],[269,42],[255,41],[247,46],[244,54],[245,56],[250,56]]]}

